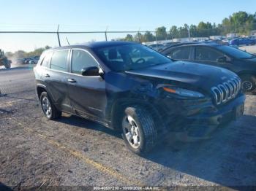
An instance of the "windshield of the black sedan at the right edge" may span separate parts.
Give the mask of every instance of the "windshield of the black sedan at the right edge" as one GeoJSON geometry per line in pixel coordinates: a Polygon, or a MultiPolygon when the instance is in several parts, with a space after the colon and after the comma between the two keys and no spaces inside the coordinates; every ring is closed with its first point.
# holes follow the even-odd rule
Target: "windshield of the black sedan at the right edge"
{"type": "Polygon", "coordinates": [[[228,55],[232,55],[235,58],[240,58],[240,59],[249,59],[249,58],[254,58],[254,55],[249,54],[248,52],[244,52],[243,50],[239,50],[234,47],[229,47],[229,46],[218,46],[217,47],[219,50],[222,50],[223,52],[227,53],[228,55]]]}

